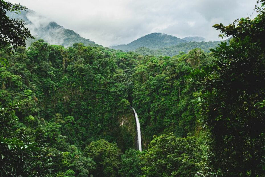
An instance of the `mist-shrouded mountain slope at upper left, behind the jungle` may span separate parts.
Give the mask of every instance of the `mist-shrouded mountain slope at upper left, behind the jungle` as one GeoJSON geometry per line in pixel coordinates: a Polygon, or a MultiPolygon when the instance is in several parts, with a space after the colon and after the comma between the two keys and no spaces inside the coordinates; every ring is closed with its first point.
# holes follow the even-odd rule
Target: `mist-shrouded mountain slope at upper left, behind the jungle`
{"type": "Polygon", "coordinates": [[[27,46],[37,39],[44,39],[50,44],[63,45],[64,47],[72,46],[74,43],[98,46],[95,42],[81,37],[73,30],[65,29],[54,21],[36,14],[32,10],[28,10],[28,12],[21,11],[19,14],[8,12],[7,15],[10,18],[19,18],[26,21],[28,29],[31,30],[31,34],[36,38],[35,40],[28,39],[26,41],[27,46]]]}

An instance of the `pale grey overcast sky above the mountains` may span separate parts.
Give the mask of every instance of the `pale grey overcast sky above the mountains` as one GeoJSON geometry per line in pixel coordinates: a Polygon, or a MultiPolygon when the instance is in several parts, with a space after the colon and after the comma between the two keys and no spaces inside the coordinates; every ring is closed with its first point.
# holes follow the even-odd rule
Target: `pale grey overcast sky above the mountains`
{"type": "MultiPolygon", "coordinates": [[[[10,0],[108,47],[159,32],[220,40],[216,23],[251,15],[256,0],[10,0]]],[[[254,15],[252,15],[254,16],[254,15]]]]}

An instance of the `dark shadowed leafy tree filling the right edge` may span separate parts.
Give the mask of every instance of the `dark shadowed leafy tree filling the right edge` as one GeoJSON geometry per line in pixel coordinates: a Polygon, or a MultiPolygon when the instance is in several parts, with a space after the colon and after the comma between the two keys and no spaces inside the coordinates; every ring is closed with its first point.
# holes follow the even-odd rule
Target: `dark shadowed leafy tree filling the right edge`
{"type": "Polygon", "coordinates": [[[218,60],[190,75],[203,85],[198,102],[202,125],[210,131],[209,166],[222,176],[264,175],[265,122],[258,105],[265,98],[265,2],[258,2],[254,19],[213,26],[233,41],[211,49],[218,60]]]}

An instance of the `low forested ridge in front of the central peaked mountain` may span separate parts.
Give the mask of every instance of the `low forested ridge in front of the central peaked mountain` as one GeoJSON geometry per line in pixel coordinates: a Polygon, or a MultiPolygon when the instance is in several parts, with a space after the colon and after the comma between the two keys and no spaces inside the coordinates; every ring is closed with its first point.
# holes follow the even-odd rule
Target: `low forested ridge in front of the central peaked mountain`
{"type": "Polygon", "coordinates": [[[160,49],[149,49],[146,47],[140,47],[135,50],[135,53],[141,55],[154,55],[158,56],[174,56],[178,55],[180,52],[188,53],[190,50],[195,48],[200,48],[205,52],[210,52],[209,49],[215,48],[220,44],[220,41],[209,41],[209,42],[188,42],[188,43],[180,43],[178,45],[173,45],[170,47],[164,47],[160,49]]]}

